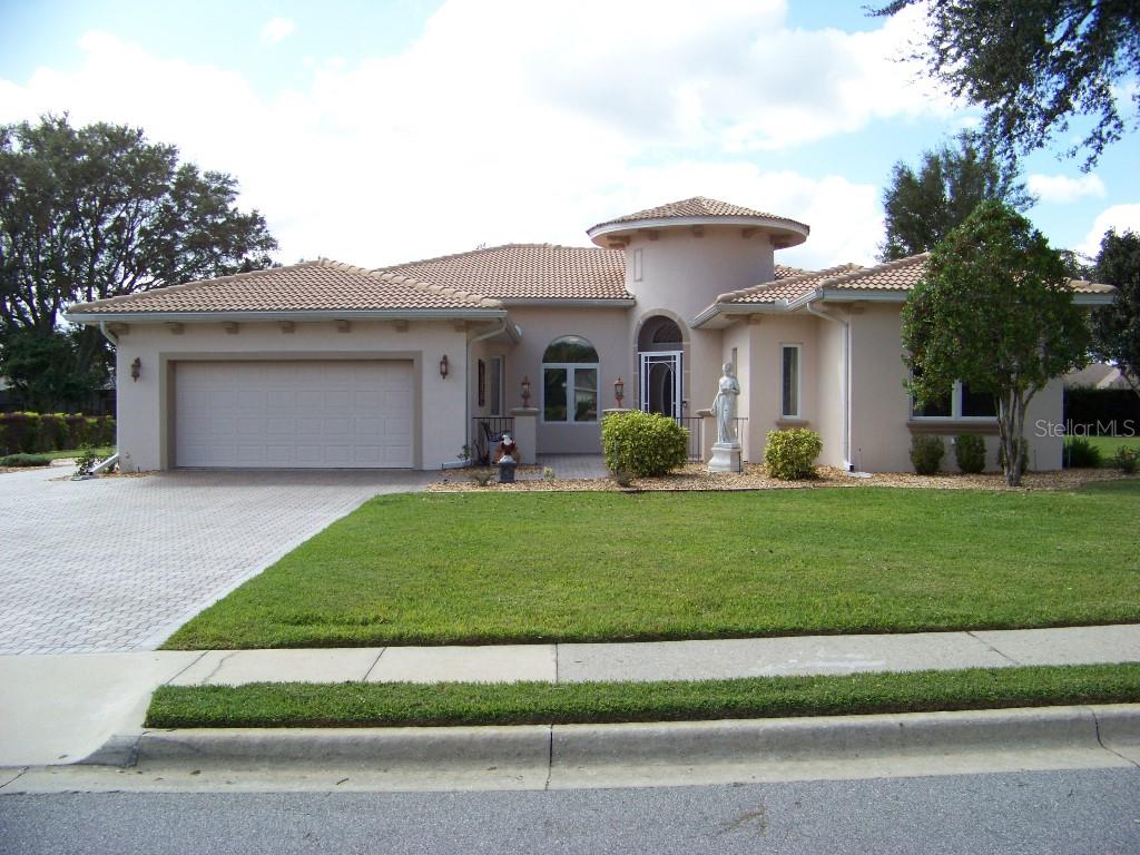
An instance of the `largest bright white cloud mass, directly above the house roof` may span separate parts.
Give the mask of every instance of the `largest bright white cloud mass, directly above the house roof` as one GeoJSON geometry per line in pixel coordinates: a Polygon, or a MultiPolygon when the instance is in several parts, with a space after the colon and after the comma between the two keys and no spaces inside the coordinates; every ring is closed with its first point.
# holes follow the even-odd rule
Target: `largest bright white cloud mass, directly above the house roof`
{"type": "Polygon", "coordinates": [[[788,28],[782,0],[710,0],[700,15],[656,0],[494,9],[450,0],[404,52],[318,62],[269,97],[233,71],[92,32],[75,68],[0,80],[0,121],[71,111],[141,125],[235,174],[286,262],[581,244],[605,217],[703,194],[808,222],[808,243],[780,260],[822,266],[872,259],[878,190],[750,161],[955,109],[895,62],[923,25],[913,10],[848,34],[788,28]]]}

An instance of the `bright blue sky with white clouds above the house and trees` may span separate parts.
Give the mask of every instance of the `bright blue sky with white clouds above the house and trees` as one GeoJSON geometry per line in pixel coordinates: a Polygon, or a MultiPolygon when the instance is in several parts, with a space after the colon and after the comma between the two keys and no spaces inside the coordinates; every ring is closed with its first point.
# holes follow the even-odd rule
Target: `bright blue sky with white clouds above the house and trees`
{"type": "MultiPolygon", "coordinates": [[[[7,0],[0,121],[140,125],[237,177],[286,263],[584,244],[594,222],[698,194],[809,223],[784,263],[865,263],[891,165],[977,114],[899,62],[920,15],[863,7],[7,0]]],[[[1140,229],[1137,141],[1090,174],[1026,160],[1054,245],[1140,229]]]]}

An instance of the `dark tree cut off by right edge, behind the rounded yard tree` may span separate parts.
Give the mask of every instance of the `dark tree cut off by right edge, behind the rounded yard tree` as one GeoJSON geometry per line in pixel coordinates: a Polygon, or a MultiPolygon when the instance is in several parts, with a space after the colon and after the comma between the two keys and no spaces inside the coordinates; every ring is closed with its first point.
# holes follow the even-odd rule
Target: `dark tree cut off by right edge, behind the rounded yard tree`
{"type": "Polygon", "coordinates": [[[1097,282],[1116,286],[1112,306],[1092,315],[1092,353],[1113,363],[1140,394],[1140,235],[1110,230],[1100,242],[1097,282]]]}

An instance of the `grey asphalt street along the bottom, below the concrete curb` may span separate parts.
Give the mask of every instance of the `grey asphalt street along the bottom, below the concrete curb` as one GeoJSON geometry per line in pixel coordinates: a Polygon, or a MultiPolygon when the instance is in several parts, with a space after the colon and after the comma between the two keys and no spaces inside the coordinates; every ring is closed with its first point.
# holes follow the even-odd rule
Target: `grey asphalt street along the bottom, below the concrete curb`
{"type": "Polygon", "coordinates": [[[1140,771],[432,793],[0,796],[0,852],[1137,853],[1140,771]]]}

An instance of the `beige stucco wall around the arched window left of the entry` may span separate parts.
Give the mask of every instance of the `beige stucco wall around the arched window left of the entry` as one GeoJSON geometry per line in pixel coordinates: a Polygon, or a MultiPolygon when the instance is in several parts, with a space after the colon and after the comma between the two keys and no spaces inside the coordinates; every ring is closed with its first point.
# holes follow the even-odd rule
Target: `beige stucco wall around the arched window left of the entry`
{"type": "Polygon", "coordinates": [[[633,406],[636,368],[629,341],[629,309],[512,307],[511,319],[522,328],[522,341],[507,353],[507,409],[522,406],[522,378],[530,378],[530,406],[539,408],[539,454],[601,454],[601,422],[551,423],[543,420],[543,353],[555,339],[579,335],[597,350],[597,406],[602,410],[616,406],[613,383],[620,376],[626,383],[626,406],[633,406]]]}

